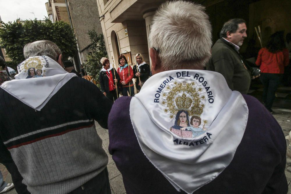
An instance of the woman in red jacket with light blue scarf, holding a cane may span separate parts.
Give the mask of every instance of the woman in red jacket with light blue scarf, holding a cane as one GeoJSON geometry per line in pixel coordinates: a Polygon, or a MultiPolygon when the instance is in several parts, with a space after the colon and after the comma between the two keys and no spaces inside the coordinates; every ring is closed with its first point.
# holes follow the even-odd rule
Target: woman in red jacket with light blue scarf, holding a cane
{"type": "Polygon", "coordinates": [[[127,92],[130,96],[134,96],[134,87],[133,87],[133,70],[127,64],[126,57],[120,55],[118,57],[119,67],[117,68],[118,75],[120,77],[120,85],[122,86],[121,92],[123,96],[127,96],[127,92]]]}

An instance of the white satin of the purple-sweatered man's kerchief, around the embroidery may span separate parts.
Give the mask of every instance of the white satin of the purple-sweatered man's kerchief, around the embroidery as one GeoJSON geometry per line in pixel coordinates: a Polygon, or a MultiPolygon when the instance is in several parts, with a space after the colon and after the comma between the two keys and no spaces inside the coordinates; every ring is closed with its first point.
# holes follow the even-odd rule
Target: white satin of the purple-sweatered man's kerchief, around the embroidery
{"type": "MultiPolygon", "coordinates": [[[[203,94],[207,96],[206,90],[201,92],[203,94]]],[[[130,102],[130,118],[139,145],[150,162],[178,191],[182,189],[193,193],[215,179],[232,161],[244,135],[248,108],[242,95],[231,91],[221,74],[203,70],[172,70],[155,74],[145,82],[130,102]],[[189,77],[177,78],[176,73],[182,71],[188,72],[189,77]],[[194,81],[198,88],[205,90],[203,82],[194,78],[196,74],[207,81],[214,101],[203,101],[205,107],[200,117],[207,120],[207,131],[194,138],[182,138],[169,130],[175,118],[171,119],[170,114],[165,113],[162,101],[154,102],[155,94],[169,76],[174,79],[166,84],[163,92],[168,90],[167,86],[173,88],[175,81],[194,81]],[[205,137],[207,140],[203,141],[205,137]],[[182,144],[174,141],[177,139],[182,144]],[[199,142],[201,139],[202,144],[199,142]],[[185,141],[188,145],[183,145],[185,141]],[[189,146],[190,142],[194,146],[189,146]]]]}

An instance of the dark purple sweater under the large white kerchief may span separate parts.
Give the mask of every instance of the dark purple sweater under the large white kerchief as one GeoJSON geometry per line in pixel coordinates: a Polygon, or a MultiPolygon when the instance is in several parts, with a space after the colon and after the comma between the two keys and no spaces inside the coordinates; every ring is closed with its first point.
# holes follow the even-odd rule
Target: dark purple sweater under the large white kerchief
{"type": "MultiPolygon", "coordinates": [[[[194,193],[287,193],[286,142],[275,118],[243,95],[249,108],[244,136],[228,167],[194,193]]],[[[123,176],[127,194],[178,192],[143,154],[129,116],[132,97],[115,101],[108,119],[109,153],[123,176]]],[[[191,180],[189,180],[191,181],[191,180]]]]}

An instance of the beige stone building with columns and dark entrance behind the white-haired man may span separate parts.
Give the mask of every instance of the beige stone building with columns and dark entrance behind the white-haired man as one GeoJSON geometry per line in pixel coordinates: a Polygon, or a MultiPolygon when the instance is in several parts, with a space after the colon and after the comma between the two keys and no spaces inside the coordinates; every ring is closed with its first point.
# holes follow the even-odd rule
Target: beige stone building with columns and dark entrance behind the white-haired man
{"type": "MultiPolygon", "coordinates": [[[[148,35],[152,17],[158,6],[165,0],[97,0],[99,17],[109,58],[118,67],[118,56],[130,53],[134,63],[136,53],[143,54],[150,64],[148,54],[148,35]]],[[[240,52],[247,57],[255,57],[260,43],[254,27],[260,25],[263,47],[269,35],[284,30],[291,32],[289,11],[290,0],[196,0],[195,3],[206,7],[212,24],[213,42],[219,38],[224,24],[232,18],[243,18],[247,22],[248,37],[240,52]],[[251,40],[251,41],[250,41],[251,40]]]]}

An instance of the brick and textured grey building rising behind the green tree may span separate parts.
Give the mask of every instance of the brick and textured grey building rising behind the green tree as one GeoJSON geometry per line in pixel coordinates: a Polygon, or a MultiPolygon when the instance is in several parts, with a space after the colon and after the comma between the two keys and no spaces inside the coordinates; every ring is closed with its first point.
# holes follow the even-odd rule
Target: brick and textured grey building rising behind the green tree
{"type": "Polygon", "coordinates": [[[77,57],[81,64],[85,63],[91,51],[88,31],[95,30],[97,34],[102,33],[97,1],[49,0],[45,6],[52,22],[64,21],[71,25],[77,40],[77,57]]]}

